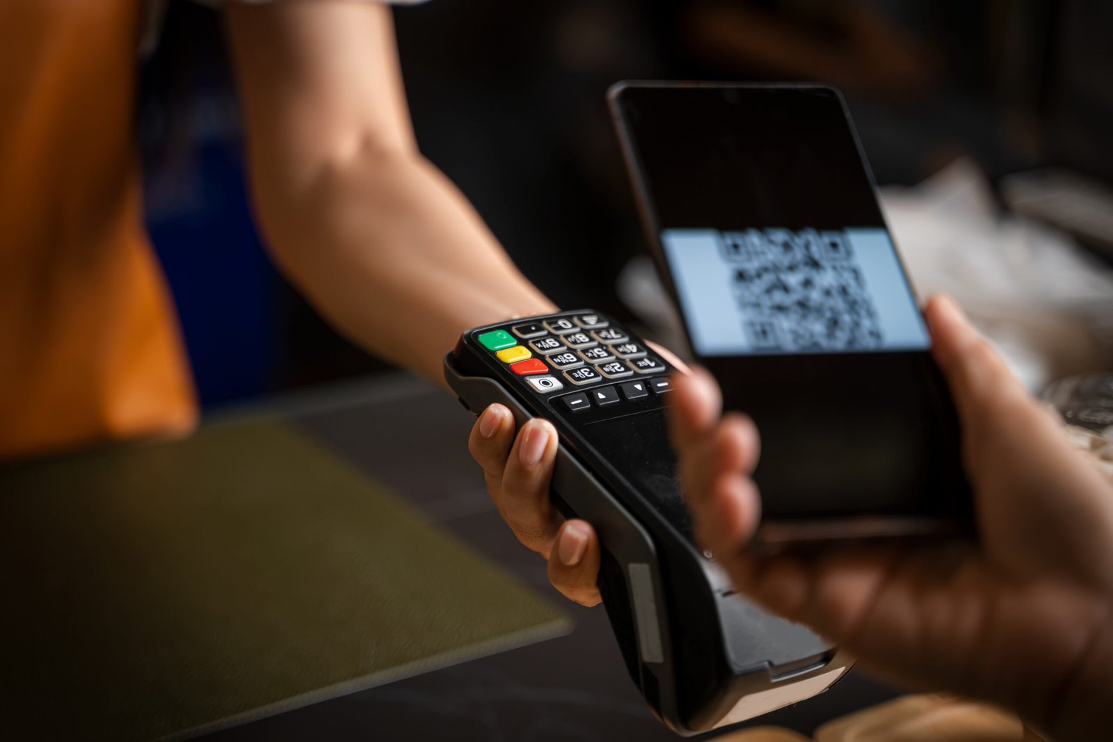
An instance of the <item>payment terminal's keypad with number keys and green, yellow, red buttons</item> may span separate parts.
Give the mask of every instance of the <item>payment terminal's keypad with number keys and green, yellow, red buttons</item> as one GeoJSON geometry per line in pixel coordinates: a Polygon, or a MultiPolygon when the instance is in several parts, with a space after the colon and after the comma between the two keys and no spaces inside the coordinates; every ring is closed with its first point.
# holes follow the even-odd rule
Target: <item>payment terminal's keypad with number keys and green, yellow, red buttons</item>
{"type": "Polygon", "coordinates": [[[629,414],[671,388],[664,360],[597,313],[508,323],[474,337],[516,383],[577,415],[629,414]]]}

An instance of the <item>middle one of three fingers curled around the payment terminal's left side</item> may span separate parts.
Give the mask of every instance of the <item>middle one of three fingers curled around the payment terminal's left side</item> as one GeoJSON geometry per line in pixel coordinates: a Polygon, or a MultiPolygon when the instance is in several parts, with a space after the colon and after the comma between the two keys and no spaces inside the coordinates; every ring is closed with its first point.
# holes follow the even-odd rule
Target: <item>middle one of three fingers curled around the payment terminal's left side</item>
{"type": "Polygon", "coordinates": [[[518,540],[528,548],[550,555],[561,517],[549,499],[556,429],[533,418],[522,426],[506,457],[495,505],[518,540]]]}

